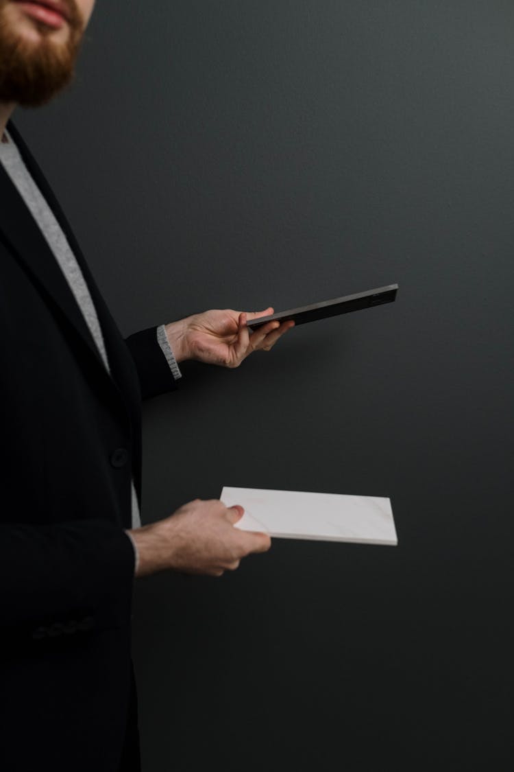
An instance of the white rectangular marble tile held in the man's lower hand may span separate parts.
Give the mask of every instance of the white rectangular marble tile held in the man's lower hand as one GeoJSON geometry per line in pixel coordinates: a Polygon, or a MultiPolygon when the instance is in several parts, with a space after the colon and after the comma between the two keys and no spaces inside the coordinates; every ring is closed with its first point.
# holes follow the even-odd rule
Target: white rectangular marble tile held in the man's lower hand
{"type": "Polygon", "coordinates": [[[391,500],[382,496],[224,487],[220,499],[244,507],[236,523],[241,530],[284,539],[398,543],[391,500]]]}

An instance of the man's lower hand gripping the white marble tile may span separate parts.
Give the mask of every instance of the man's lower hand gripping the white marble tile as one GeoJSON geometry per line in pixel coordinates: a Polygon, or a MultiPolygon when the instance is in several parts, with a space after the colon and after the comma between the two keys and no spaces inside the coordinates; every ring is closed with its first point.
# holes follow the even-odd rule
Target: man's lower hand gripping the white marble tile
{"type": "Polygon", "coordinates": [[[266,552],[267,533],[233,527],[243,514],[242,506],[195,499],[165,520],[128,530],[139,554],[136,577],[166,570],[219,577],[236,569],[242,557],[266,552]]]}

